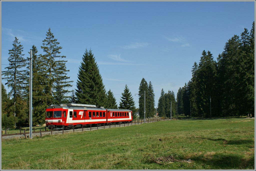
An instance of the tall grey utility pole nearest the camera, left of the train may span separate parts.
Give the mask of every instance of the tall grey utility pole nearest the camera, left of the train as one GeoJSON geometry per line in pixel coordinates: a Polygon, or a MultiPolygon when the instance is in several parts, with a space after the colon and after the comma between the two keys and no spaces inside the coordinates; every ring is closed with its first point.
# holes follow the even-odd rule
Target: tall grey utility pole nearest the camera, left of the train
{"type": "Polygon", "coordinates": [[[30,71],[29,71],[29,137],[32,139],[32,50],[30,50],[30,71]]]}

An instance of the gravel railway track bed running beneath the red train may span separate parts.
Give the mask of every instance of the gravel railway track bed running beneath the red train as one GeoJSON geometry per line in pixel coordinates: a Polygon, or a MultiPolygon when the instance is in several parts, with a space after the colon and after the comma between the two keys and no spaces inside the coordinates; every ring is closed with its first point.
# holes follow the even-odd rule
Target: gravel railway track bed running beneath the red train
{"type": "MultiPolygon", "coordinates": [[[[147,121],[147,123],[151,122],[157,122],[154,121],[147,121]]],[[[138,125],[138,124],[144,124],[144,121],[136,122],[136,123],[125,123],[125,124],[108,124],[108,125],[101,125],[101,126],[91,126],[86,125],[86,127],[83,128],[74,128],[74,129],[60,129],[60,130],[49,130],[49,131],[35,131],[32,132],[33,137],[40,137],[45,135],[52,135],[52,134],[62,134],[67,132],[81,132],[81,131],[92,131],[97,129],[107,129],[107,128],[113,128],[113,127],[125,127],[125,126],[132,126],[132,125],[138,125]]],[[[22,132],[22,133],[15,133],[15,134],[2,134],[2,139],[12,139],[12,138],[29,138],[29,132],[22,132]]]]}

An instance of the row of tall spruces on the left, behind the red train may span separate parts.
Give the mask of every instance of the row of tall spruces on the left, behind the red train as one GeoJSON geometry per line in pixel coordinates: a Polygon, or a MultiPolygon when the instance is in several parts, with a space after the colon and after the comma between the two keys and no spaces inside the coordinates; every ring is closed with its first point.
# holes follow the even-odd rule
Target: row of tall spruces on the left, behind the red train
{"type": "MultiPolygon", "coordinates": [[[[135,102],[132,94],[125,85],[119,106],[111,90],[106,92],[99,68],[95,62],[92,50],[86,49],[79,67],[76,89],[72,87],[69,70],[66,68],[66,56],[60,55],[59,42],[49,28],[46,38],[42,41],[41,49],[44,54],[38,54],[37,47],[32,46],[32,105],[33,125],[45,123],[45,110],[47,106],[80,103],[93,104],[98,107],[130,109],[135,111],[135,102]],[[68,94],[71,94],[70,96],[68,94]]],[[[1,84],[2,126],[14,128],[29,124],[29,58],[23,56],[23,46],[17,37],[13,42],[13,48],[9,50],[9,65],[2,71],[2,79],[6,80],[10,92],[7,93],[1,84]]],[[[153,89],[153,87],[152,87],[153,89]]],[[[135,114],[135,113],[134,113],[135,114]]]]}

